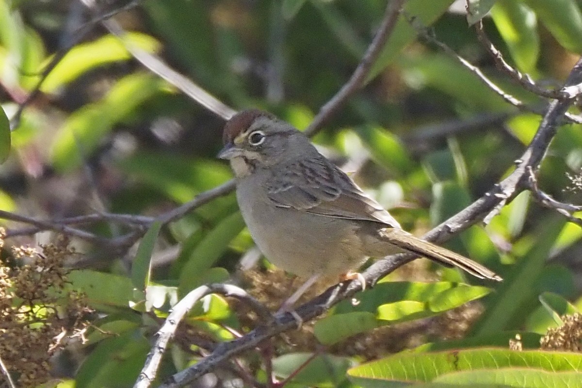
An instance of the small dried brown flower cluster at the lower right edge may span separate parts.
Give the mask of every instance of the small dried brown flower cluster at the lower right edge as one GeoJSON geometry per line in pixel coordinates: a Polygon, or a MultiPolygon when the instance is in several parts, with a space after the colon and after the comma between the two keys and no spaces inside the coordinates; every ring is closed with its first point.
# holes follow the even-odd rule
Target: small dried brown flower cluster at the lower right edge
{"type": "Polygon", "coordinates": [[[544,350],[582,351],[582,314],[562,316],[564,322],[558,328],[548,329],[540,340],[544,350]]]}

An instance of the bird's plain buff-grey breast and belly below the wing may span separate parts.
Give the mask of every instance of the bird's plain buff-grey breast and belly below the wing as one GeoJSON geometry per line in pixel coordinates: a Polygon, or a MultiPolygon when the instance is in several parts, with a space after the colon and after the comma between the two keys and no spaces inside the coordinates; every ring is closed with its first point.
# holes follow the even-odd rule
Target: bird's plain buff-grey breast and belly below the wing
{"type": "Polygon", "coordinates": [[[365,261],[349,220],[276,207],[253,179],[239,180],[236,194],[253,240],[279,268],[301,277],[339,276],[365,261]]]}

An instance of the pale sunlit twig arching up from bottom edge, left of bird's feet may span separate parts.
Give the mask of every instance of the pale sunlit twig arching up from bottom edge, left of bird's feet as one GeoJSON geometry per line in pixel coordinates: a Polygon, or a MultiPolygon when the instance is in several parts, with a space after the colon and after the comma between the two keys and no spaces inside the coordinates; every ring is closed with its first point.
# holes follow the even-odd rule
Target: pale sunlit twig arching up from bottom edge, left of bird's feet
{"type": "Polygon", "coordinates": [[[156,334],[158,338],[150,353],[147,355],[145,365],[143,369],[141,369],[141,373],[134,388],[147,388],[151,385],[151,382],[155,379],[162,355],[164,355],[164,351],[166,350],[169,341],[175,335],[180,321],[182,321],[184,316],[188,314],[196,302],[204,296],[212,293],[240,299],[244,303],[249,304],[250,307],[257,312],[258,316],[265,320],[265,322],[272,321],[271,312],[239,287],[233,286],[232,284],[210,284],[208,286],[200,286],[197,289],[190,291],[172,308],[164,325],[162,325],[161,329],[159,329],[156,334]]]}

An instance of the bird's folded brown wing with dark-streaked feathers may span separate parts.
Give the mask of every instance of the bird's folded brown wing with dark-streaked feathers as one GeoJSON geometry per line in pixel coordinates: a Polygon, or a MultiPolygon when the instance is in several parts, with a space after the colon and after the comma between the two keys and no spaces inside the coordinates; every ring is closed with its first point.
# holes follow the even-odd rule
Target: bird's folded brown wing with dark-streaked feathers
{"type": "Polygon", "coordinates": [[[268,198],[277,207],[400,227],[378,202],[322,155],[278,170],[282,172],[267,183],[268,198]]]}

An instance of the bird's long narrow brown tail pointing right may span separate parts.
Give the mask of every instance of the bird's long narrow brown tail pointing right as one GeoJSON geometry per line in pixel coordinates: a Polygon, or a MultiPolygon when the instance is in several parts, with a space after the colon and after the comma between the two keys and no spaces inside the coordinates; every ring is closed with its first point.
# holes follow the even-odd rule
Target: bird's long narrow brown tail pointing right
{"type": "Polygon", "coordinates": [[[446,266],[459,267],[480,279],[491,279],[497,280],[498,282],[503,280],[501,276],[497,275],[486,266],[453,251],[449,251],[446,248],[418,239],[418,237],[414,237],[412,234],[404,232],[402,229],[386,228],[382,230],[381,236],[389,243],[396,245],[405,251],[413,252],[419,256],[445,264],[446,266]]]}

